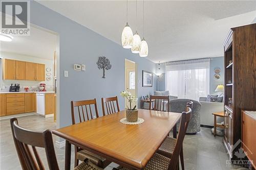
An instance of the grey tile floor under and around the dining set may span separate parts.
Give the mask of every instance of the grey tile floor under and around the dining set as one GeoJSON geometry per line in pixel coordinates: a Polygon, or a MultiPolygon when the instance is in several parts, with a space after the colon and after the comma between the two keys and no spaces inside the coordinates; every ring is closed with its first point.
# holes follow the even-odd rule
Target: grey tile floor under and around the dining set
{"type": "MultiPolygon", "coordinates": [[[[18,117],[20,126],[34,130],[43,131],[45,129],[55,129],[53,117],[44,118],[38,115],[29,115],[18,117]]],[[[56,136],[53,135],[55,141],[56,136]]],[[[227,167],[226,160],[228,156],[222,144],[222,137],[212,135],[209,128],[201,128],[201,132],[196,135],[186,135],[184,139],[184,162],[185,169],[205,169],[205,170],[221,170],[221,169],[246,169],[242,167],[227,167]]],[[[46,161],[43,149],[38,150],[42,155],[43,161],[46,161]]],[[[60,169],[64,169],[65,147],[55,148],[58,165],[60,169]]],[[[72,147],[72,166],[74,166],[74,147],[72,147]]],[[[105,169],[111,170],[116,167],[115,163],[105,169]]],[[[0,169],[16,170],[21,169],[13,143],[9,119],[0,120],[0,169]]]]}

